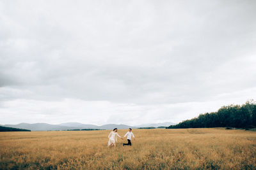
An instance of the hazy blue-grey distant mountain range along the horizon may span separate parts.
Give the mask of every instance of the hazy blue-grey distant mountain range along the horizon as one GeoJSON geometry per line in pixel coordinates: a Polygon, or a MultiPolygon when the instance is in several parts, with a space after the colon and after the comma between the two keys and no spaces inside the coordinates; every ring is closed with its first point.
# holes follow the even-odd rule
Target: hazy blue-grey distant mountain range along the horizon
{"type": "Polygon", "coordinates": [[[58,125],[52,125],[52,124],[45,124],[45,123],[37,123],[37,124],[26,124],[21,123],[17,125],[3,125],[4,127],[14,127],[19,129],[29,129],[31,131],[61,131],[61,130],[72,130],[72,129],[114,129],[115,127],[117,129],[129,129],[131,127],[132,129],[136,129],[138,127],[159,127],[159,126],[170,126],[175,125],[170,122],[166,123],[160,123],[160,124],[141,124],[136,126],[129,126],[124,124],[106,124],[106,125],[92,125],[92,124],[81,124],[77,122],[68,122],[58,125]]]}

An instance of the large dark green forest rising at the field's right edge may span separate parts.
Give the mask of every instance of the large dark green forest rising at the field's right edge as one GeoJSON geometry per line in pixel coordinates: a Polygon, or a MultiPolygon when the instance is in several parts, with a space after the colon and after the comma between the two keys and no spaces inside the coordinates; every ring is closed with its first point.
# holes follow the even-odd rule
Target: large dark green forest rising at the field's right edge
{"type": "Polygon", "coordinates": [[[256,127],[256,103],[251,100],[242,106],[239,104],[223,106],[216,112],[200,114],[196,118],[170,125],[166,129],[200,127],[254,128],[256,127]]]}

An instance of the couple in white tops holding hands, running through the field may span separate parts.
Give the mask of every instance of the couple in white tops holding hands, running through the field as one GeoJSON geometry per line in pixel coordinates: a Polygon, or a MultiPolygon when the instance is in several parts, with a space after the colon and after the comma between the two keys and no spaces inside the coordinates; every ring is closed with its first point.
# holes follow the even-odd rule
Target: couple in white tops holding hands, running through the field
{"type": "MultiPolygon", "coordinates": [[[[123,143],[123,146],[124,146],[124,145],[130,145],[130,146],[132,146],[131,139],[134,138],[134,140],[135,140],[135,137],[134,137],[134,134],[133,134],[131,131],[132,131],[132,129],[129,128],[129,131],[125,134],[124,138],[127,136],[127,141],[128,141],[128,143],[123,143]]],[[[113,129],[113,131],[111,131],[111,132],[109,133],[109,135],[108,135],[108,138],[109,138],[109,140],[108,140],[108,146],[110,146],[110,145],[111,145],[111,146],[116,146],[116,141],[117,141],[116,136],[118,136],[118,137],[121,138],[121,139],[124,139],[124,138],[122,138],[121,136],[119,136],[119,134],[117,133],[117,128],[115,128],[115,129],[113,129]]]]}

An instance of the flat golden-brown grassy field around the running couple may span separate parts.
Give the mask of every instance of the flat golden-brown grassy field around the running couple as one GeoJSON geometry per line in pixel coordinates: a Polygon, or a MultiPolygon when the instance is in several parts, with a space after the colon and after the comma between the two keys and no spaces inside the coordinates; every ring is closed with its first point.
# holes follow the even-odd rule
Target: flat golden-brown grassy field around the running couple
{"type": "Polygon", "coordinates": [[[0,132],[0,169],[256,169],[256,132],[133,129],[108,148],[109,132],[0,132]]]}

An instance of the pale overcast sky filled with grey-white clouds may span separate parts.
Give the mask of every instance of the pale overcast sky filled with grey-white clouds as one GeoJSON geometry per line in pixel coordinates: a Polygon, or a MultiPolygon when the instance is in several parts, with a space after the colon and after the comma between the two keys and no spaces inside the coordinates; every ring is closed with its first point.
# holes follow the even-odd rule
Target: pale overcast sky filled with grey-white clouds
{"type": "Polygon", "coordinates": [[[0,1],[0,124],[179,123],[256,99],[256,1],[0,1]]]}

